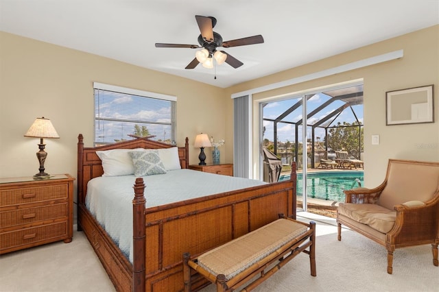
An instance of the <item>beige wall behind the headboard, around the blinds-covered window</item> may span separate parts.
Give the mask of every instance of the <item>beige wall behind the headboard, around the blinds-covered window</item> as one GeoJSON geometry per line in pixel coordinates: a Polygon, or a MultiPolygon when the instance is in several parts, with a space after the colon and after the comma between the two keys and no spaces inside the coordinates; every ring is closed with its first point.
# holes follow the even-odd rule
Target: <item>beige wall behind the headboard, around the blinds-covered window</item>
{"type": "MultiPolygon", "coordinates": [[[[192,147],[196,134],[226,136],[228,97],[222,88],[13,34],[0,32],[0,43],[0,177],[38,172],[39,139],[23,137],[36,117],[51,119],[60,135],[45,139],[46,171],[76,176],[78,134],[86,147],[93,146],[93,82],[176,96],[177,143],[189,137],[192,164],[200,153],[192,147]]],[[[231,162],[221,151],[222,161],[231,162]]]]}

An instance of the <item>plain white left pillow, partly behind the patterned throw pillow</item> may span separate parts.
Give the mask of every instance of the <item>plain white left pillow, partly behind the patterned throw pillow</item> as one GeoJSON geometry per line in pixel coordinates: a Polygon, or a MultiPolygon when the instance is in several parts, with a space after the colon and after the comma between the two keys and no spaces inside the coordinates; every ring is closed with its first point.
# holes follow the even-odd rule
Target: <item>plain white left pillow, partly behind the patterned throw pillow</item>
{"type": "Polygon", "coordinates": [[[134,165],[129,152],[143,150],[143,148],[136,148],[96,151],[97,156],[102,160],[102,168],[104,169],[102,176],[134,174],[134,165]]]}

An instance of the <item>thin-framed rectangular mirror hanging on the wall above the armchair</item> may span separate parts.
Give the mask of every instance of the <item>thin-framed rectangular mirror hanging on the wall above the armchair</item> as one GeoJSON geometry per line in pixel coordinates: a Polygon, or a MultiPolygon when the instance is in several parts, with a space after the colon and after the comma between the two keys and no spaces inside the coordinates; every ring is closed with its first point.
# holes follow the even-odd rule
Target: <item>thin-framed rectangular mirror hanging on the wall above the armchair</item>
{"type": "Polygon", "coordinates": [[[433,85],[385,93],[385,124],[434,123],[433,85]]]}

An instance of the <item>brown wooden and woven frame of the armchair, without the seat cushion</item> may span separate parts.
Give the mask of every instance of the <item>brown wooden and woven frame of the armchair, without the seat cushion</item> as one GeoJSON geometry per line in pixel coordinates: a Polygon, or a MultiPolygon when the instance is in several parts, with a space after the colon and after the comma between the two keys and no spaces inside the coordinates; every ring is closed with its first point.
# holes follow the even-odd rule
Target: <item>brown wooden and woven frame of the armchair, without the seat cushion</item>
{"type": "MultiPolygon", "coordinates": [[[[342,214],[337,210],[337,233],[338,240],[342,239],[342,224],[363,234],[373,241],[383,245],[388,250],[388,273],[392,273],[393,252],[397,248],[409,247],[414,245],[431,244],[433,252],[433,265],[438,266],[438,244],[439,244],[439,162],[419,162],[411,160],[389,160],[388,170],[384,182],[376,188],[357,188],[344,191],[346,194],[345,203],[352,204],[379,204],[380,196],[388,186],[389,173],[392,165],[407,164],[408,166],[427,167],[426,173],[431,173],[434,177],[430,180],[433,188],[436,182],[436,191],[422,206],[407,206],[397,204],[394,206],[396,220],[393,228],[383,234],[373,230],[366,224],[358,223],[342,214]]],[[[410,169],[408,167],[407,169],[410,169]]],[[[417,168],[419,169],[419,168],[417,168]]],[[[408,175],[416,175],[415,173],[408,175]]],[[[416,178],[410,180],[409,184],[420,184],[416,178]]],[[[404,186],[401,186],[403,188],[404,186]]],[[[416,200],[416,192],[414,199],[416,200]]],[[[339,207],[340,208],[340,207],[339,207]]]]}

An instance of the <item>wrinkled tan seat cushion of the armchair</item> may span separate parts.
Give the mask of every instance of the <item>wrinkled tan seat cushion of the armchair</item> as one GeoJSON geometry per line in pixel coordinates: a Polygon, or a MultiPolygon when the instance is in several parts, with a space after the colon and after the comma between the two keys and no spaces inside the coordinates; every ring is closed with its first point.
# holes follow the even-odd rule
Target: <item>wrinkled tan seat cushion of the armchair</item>
{"type": "Polygon", "coordinates": [[[338,212],[381,233],[392,230],[396,220],[396,211],[377,204],[340,203],[338,212]]]}

